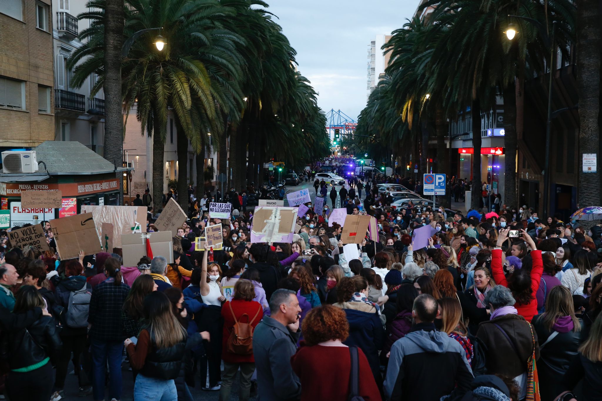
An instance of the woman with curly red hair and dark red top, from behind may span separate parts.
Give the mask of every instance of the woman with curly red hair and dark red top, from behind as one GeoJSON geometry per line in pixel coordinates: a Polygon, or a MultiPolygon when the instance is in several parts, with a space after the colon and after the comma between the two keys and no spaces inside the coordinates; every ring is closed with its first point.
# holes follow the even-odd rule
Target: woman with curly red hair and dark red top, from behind
{"type": "MultiPolygon", "coordinates": [[[[301,381],[301,401],[347,400],[351,370],[350,349],[343,341],[349,336],[349,323],[343,310],[323,305],[311,309],[302,325],[300,349],[291,358],[293,370],[301,381]],[[323,385],[323,378],[329,385],[323,385]]],[[[371,375],[368,359],[359,347],[358,396],[364,400],[380,400],[380,393],[371,375]]]]}

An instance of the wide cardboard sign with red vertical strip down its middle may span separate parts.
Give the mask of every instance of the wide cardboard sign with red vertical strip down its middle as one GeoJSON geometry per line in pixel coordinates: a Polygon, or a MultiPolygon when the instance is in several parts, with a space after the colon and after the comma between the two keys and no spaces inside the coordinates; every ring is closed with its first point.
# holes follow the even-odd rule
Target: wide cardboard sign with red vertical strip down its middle
{"type": "Polygon", "coordinates": [[[173,263],[173,242],[171,231],[141,232],[124,234],[121,237],[123,250],[123,266],[138,266],[146,253],[146,241],[151,244],[153,256],[163,256],[167,263],[173,263]]]}

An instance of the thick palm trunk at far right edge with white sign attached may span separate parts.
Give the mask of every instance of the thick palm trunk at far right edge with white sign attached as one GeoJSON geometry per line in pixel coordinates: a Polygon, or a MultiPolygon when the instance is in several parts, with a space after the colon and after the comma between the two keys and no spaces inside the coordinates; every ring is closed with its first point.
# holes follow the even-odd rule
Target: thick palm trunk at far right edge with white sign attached
{"type": "MultiPolygon", "coordinates": [[[[579,94],[579,175],[578,207],[600,202],[600,167],[596,173],[583,173],[583,154],[600,148],[600,15],[598,2],[577,2],[577,93],[579,94]]],[[[598,153],[598,157],[600,154],[598,153]]],[[[547,173],[547,172],[546,172],[547,173]]],[[[592,226],[583,220],[585,229],[592,226]]]]}

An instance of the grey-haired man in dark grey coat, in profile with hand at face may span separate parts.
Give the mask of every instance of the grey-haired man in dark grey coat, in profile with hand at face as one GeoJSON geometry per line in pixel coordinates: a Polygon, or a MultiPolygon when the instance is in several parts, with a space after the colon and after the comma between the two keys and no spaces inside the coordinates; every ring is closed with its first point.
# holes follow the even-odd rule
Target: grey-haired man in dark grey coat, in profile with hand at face
{"type": "Polygon", "coordinates": [[[297,293],[281,288],[270,297],[271,316],[264,316],[253,333],[257,398],[261,401],[298,399],[301,382],[291,367],[299,340],[297,293]]]}

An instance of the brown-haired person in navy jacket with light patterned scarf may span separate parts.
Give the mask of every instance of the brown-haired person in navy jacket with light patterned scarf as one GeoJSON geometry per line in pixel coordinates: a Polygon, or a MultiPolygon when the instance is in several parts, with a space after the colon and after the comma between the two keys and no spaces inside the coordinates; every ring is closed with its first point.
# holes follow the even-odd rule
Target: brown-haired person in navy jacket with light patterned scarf
{"type": "Polygon", "coordinates": [[[349,321],[349,338],[343,343],[359,347],[374,375],[377,386],[382,385],[378,352],[383,347],[384,331],[380,322],[380,307],[368,300],[368,281],[362,276],[341,279],[338,302],[333,306],[343,309],[349,321]]]}

